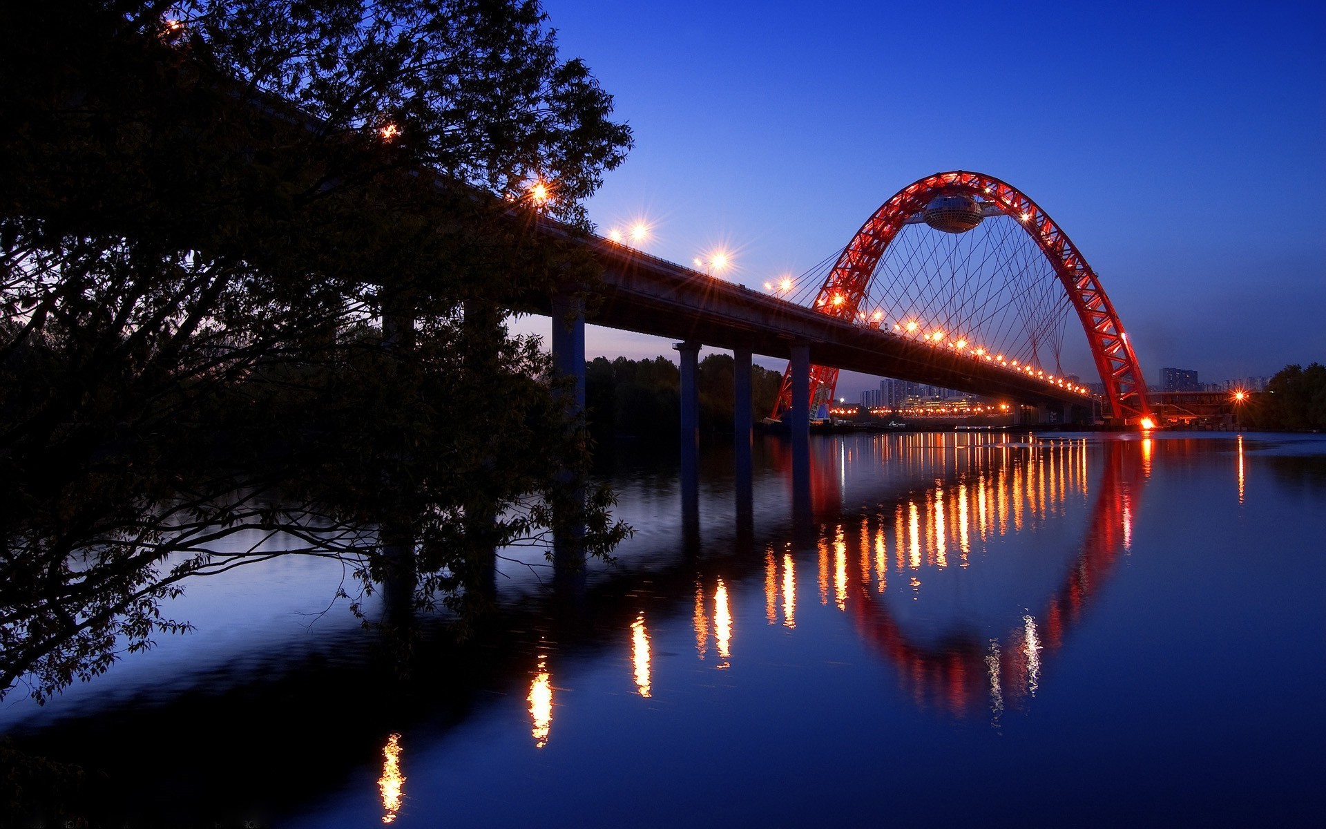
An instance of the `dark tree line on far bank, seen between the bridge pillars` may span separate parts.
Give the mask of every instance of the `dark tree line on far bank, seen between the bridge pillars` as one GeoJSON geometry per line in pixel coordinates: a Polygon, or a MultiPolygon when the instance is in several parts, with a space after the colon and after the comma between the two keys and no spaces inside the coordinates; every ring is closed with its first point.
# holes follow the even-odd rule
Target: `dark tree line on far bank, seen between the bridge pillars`
{"type": "MultiPolygon", "coordinates": [[[[735,361],[731,354],[709,354],[700,361],[696,385],[700,391],[700,431],[731,432],[735,361]]],[[[751,366],[752,416],[773,409],[782,375],[751,366]]],[[[597,357],[586,365],[585,406],[590,431],[603,440],[613,435],[666,435],[680,426],[682,371],[666,357],[609,361],[597,357]]]]}

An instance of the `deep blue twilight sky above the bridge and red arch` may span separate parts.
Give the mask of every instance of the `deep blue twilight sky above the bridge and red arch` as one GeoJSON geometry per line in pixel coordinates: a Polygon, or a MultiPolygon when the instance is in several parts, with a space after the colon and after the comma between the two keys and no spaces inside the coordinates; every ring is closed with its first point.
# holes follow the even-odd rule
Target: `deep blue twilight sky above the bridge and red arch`
{"type": "MultiPolygon", "coordinates": [[[[1326,4],[544,5],[635,131],[589,203],[601,232],[643,216],[648,252],[727,247],[757,287],[911,182],[975,170],[1069,233],[1148,382],[1326,361],[1326,4]]],[[[675,357],[609,329],[587,353],[675,357]]],[[[874,386],[845,373],[838,394],[874,386]]]]}

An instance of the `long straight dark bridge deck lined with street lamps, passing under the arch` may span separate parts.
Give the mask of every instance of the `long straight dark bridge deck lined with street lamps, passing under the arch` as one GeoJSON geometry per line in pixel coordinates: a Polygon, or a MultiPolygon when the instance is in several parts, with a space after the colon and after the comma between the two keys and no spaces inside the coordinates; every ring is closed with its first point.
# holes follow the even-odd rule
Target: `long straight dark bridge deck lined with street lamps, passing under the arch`
{"type": "MultiPolygon", "coordinates": [[[[572,236],[552,223],[549,232],[572,236]]],[[[603,267],[602,285],[591,288],[602,296],[587,317],[594,325],[785,359],[800,345],[809,348],[815,365],[1032,406],[1091,406],[1090,397],[969,353],[855,325],[597,236],[579,243],[589,245],[603,267]]],[[[552,313],[548,300],[540,305],[552,313]]],[[[554,320],[554,341],[557,326],[554,320]]]]}

